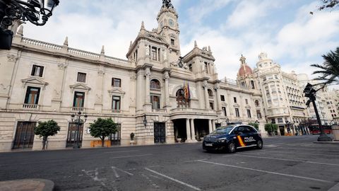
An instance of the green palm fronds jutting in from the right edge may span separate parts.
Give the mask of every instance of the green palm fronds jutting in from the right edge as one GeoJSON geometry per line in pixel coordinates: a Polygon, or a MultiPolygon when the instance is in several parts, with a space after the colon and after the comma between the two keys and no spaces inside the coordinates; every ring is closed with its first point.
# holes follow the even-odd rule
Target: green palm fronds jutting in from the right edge
{"type": "Polygon", "coordinates": [[[314,71],[313,74],[320,74],[314,80],[321,81],[321,83],[317,83],[315,85],[321,85],[321,88],[332,85],[339,84],[339,47],[335,52],[330,51],[328,54],[323,54],[324,62],[322,65],[320,64],[311,64],[311,66],[316,67],[317,69],[321,69],[319,71],[314,71]]]}

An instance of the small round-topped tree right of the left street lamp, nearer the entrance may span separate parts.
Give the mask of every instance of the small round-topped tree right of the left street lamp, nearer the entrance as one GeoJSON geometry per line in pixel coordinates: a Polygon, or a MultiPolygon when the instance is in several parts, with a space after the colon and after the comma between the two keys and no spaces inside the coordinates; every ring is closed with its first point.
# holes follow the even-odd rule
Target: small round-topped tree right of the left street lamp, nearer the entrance
{"type": "Polygon", "coordinates": [[[104,147],[105,137],[117,132],[117,124],[113,122],[112,118],[102,119],[97,118],[94,123],[90,123],[90,135],[101,139],[101,146],[104,147]]]}

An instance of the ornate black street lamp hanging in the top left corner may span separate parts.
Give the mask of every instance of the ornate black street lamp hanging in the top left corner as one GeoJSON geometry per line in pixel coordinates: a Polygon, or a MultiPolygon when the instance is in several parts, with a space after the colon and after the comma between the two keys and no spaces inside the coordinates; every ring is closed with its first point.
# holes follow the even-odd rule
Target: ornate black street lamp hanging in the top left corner
{"type": "Polygon", "coordinates": [[[58,5],[59,0],[0,0],[0,49],[11,49],[13,32],[8,26],[14,20],[44,25],[58,5]]]}

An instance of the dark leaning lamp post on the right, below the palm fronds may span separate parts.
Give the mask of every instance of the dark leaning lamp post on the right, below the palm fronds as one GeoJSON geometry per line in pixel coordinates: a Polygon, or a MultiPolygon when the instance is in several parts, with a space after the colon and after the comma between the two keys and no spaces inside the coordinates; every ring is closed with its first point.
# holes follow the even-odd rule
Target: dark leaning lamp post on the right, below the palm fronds
{"type": "MultiPolygon", "coordinates": [[[[319,91],[319,90],[318,90],[319,91]]],[[[313,104],[314,112],[316,113],[316,120],[318,121],[319,129],[320,129],[320,135],[318,137],[318,141],[332,141],[331,137],[328,137],[325,132],[323,132],[323,127],[321,126],[321,120],[319,117],[318,110],[316,108],[316,90],[314,90],[313,85],[311,83],[307,83],[304,93],[305,97],[309,98],[306,105],[309,106],[310,103],[313,104]]]]}

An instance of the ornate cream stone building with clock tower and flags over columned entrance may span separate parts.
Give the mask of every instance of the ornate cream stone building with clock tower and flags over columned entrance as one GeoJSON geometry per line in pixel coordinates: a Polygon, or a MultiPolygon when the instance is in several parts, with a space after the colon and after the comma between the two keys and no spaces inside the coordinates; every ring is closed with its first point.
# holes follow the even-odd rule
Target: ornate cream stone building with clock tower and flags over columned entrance
{"type": "Polygon", "coordinates": [[[64,45],[32,40],[20,26],[12,49],[0,51],[0,150],[41,149],[33,129],[46,120],[61,126],[48,149],[73,146],[71,115],[79,111],[88,115],[79,127],[83,147],[97,140],[88,127],[98,117],[117,122],[109,139],[121,145],[131,132],[136,144],[198,141],[227,122],[260,122],[265,135],[258,84],[219,80],[210,47],[195,43],[182,57],[178,14],[164,2],[157,29],[142,23],[126,60],[107,56],[104,47],[100,54],[76,50],[67,38],[64,45]]]}

